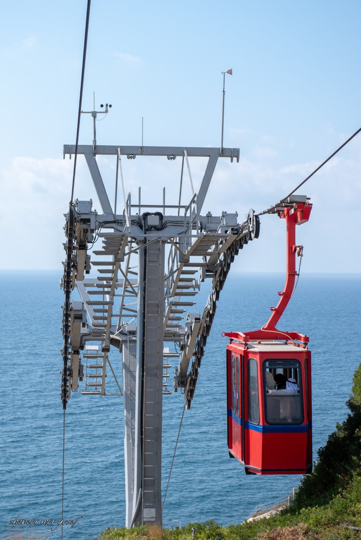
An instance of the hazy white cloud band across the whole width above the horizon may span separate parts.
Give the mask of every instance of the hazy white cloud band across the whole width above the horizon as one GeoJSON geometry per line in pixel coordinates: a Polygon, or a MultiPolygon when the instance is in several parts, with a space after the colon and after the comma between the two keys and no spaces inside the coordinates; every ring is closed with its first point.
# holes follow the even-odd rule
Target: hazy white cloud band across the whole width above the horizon
{"type": "MultiPolygon", "coordinates": [[[[361,141],[342,157],[333,158],[298,190],[311,197],[313,210],[308,224],[297,227],[296,241],[305,246],[303,270],[309,272],[359,272],[358,230],[361,213],[361,141]]],[[[97,158],[104,185],[113,204],[115,192],[114,160],[97,158]]],[[[131,192],[132,203],[138,201],[142,186],[142,203],[177,204],[182,159],[137,156],[123,159],[125,194],[131,192]]],[[[230,163],[219,159],[206,197],[202,214],[211,211],[238,212],[238,221],[254,208],[260,212],[300,183],[318,165],[310,162],[277,168],[257,160],[240,158],[230,163]]],[[[197,189],[206,166],[204,158],[190,158],[193,184],[197,189]]],[[[73,160],[15,158],[0,171],[2,205],[0,222],[3,234],[0,249],[2,266],[8,268],[60,268],[64,259],[63,213],[68,211],[73,160]],[[21,240],[21,245],[19,245],[21,240]],[[20,246],[20,247],[19,247],[20,246]]],[[[182,204],[191,198],[188,171],[184,167],[182,204]]],[[[75,198],[93,200],[93,208],[101,212],[91,177],[82,156],[78,158],[75,198]]],[[[123,196],[118,186],[118,212],[123,196]]],[[[143,210],[146,210],[143,208],[143,210]]],[[[247,247],[236,265],[244,270],[283,271],[285,265],[284,221],[276,215],[261,217],[261,234],[247,247]]]]}

